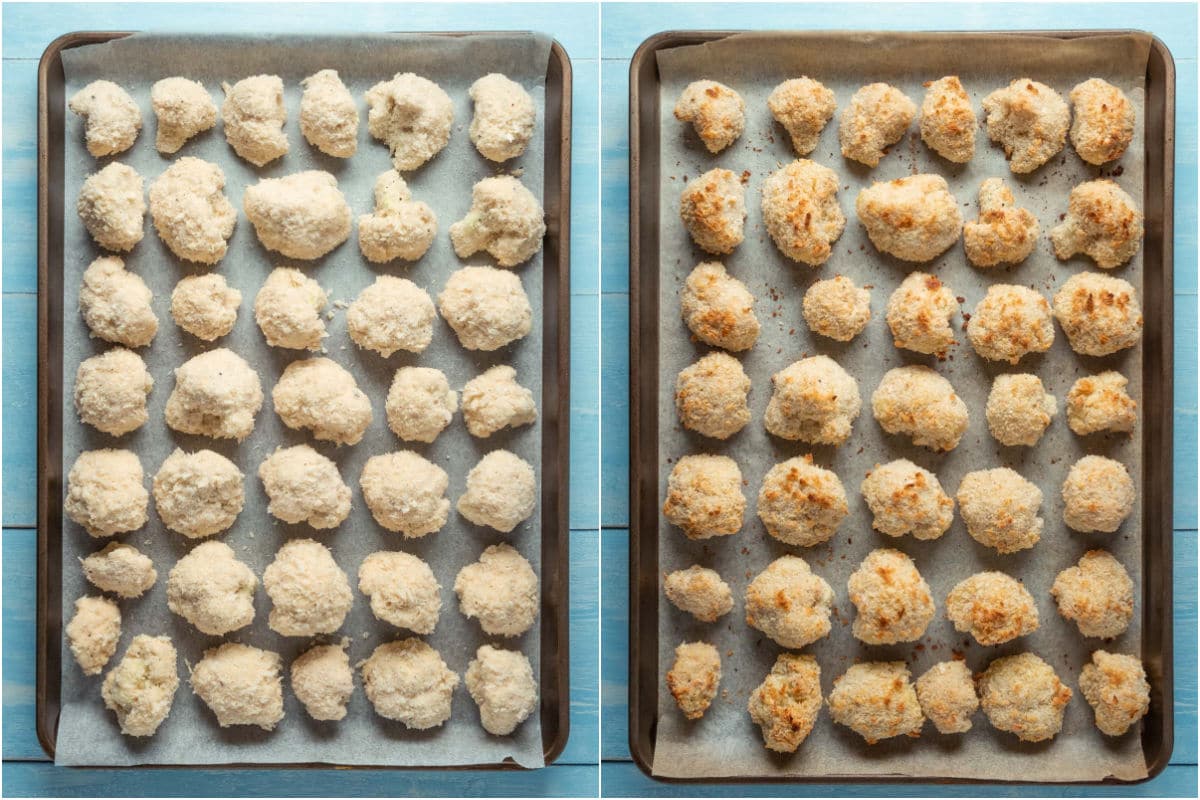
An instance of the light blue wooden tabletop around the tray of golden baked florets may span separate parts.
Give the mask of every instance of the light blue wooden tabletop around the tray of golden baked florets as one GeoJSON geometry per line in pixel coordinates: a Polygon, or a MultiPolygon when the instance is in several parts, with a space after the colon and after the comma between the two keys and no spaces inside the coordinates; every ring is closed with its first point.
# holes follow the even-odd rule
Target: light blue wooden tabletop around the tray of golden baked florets
{"type": "MultiPolygon", "coordinates": [[[[601,596],[602,770],[606,796],[796,795],[797,786],[665,784],[629,759],[626,741],[629,553],[629,61],[662,30],[730,29],[1117,29],[1158,35],[1178,71],[1175,196],[1175,754],[1154,781],[1130,787],[970,787],[972,795],[1052,794],[1196,796],[1196,8],[1194,5],[701,5],[613,4],[602,7],[601,259],[602,468],[601,596]]],[[[802,794],[956,796],[962,787],[810,786],[802,794]]]]}

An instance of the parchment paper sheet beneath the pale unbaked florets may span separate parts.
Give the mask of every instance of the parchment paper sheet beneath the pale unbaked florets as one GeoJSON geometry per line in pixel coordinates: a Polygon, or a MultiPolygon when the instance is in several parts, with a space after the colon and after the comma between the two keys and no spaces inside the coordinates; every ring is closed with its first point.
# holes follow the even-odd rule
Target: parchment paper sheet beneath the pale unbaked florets
{"type": "MultiPolygon", "coordinates": [[[[281,13],[286,8],[281,7],[281,13]]],[[[238,557],[259,577],[284,541],[312,537],[328,545],[338,565],[348,575],[354,590],[354,607],[342,628],[322,642],[337,642],[343,636],[352,639],[352,664],[366,658],[372,650],[392,639],[410,636],[408,631],[377,621],[366,597],[358,591],[358,569],[371,552],[402,549],[428,561],[442,584],[442,615],[437,630],[426,640],[434,646],[449,667],[462,676],[475,650],[492,642],[499,646],[520,648],[530,660],[534,674],[540,674],[540,624],[515,639],[490,639],[476,620],[468,620],[458,612],[454,579],[458,570],[475,561],[488,545],[509,541],[541,573],[540,566],[540,505],[534,515],[512,534],[502,535],[478,528],[451,509],[449,522],[439,533],[419,540],[406,540],[400,534],[379,527],[371,517],[359,489],[359,475],[366,459],[378,453],[412,449],[443,467],[450,475],[446,495],[457,501],[466,487],[468,470],[488,451],[506,447],[534,464],[539,481],[541,425],[505,431],[490,439],[474,439],[467,433],[461,413],[431,445],[402,443],[388,428],[384,399],[396,368],[406,365],[434,366],[446,373],[451,387],[463,384],[487,367],[510,363],[518,380],[534,396],[541,397],[541,342],[539,325],[517,343],[496,353],[472,353],[457,341],[454,331],[439,319],[433,343],[420,355],[397,353],[390,359],[359,349],[346,332],[344,306],[370,285],[377,275],[395,273],[408,277],[426,289],[434,302],[449,275],[466,265],[492,264],[486,254],[461,261],[449,240],[449,227],[462,218],[470,205],[470,188],[475,181],[502,172],[523,170],[522,182],[542,199],[544,160],[544,84],[550,58],[550,40],[526,34],[488,36],[421,36],[421,35],[359,35],[359,36],[194,36],[137,35],[106,44],[90,46],[64,53],[67,74],[66,97],[97,78],[122,85],[143,113],[143,130],[132,150],[118,160],[137,169],[146,182],[157,178],[170,162],[181,156],[197,156],[215,162],[226,174],[226,194],[238,209],[239,219],[230,240],[229,252],[212,267],[226,276],[229,284],[242,293],[238,324],[234,331],[209,345],[184,333],[170,318],[170,291],[179,278],[202,272],[194,265],[175,259],[158,240],[146,215],[146,234],[132,254],[125,257],[126,266],[140,275],[154,291],[154,308],[158,315],[158,335],[142,354],[155,379],[150,395],[150,420],[139,431],[113,439],[78,422],[72,407],[74,371],[90,355],[107,349],[98,339],[89,339],[88,329],[78,314],[66,314],[64,383],[64,474],[71,468],[80,450],[118,446],[131,447],[142,458],[146,486],[158,465],[175,447],[187,451],[208,447],[229,457],[246,475],[246,506],[235,525],[218,539],[230,545],[238,557]],[[359,106],[359,150],[349,160],[330,158],[310,146],[299,128],[300,80],[320,68],[338,71],[359,106]],[[316,263],[290,263],[277,253],[264,249],[253,227],[241,210],[245,187],[260,178],[282,176],[304,169],[325,169],[338,179],[355,218],[372,210],[376,176],[389,169],[386,146],[371,138],[366,125],[364,94],[374,83],[390,79],[397,72],[412,71],[442,85],[455,104],[455,124],[450,144],[432,162],[414,173],[404,174],[416,199],[428,203],[438,217],[438,235],[430,252],[415,265],[395,263],[371,265],[358,247],[358,230],[332,253],[316,263]],[[524,85],[538,108],[538,126],[526,154],[500,168],[480,156],[467,134],[473,113],[467,90],[487,72],[504,72],[524,85]],[[161,156],[154,146],[155,118],[150,108],[150,86],[155,80],[182,74],[204,83],[220,108],[223,100],[221,82],[230,84],[258,73],[278,74],[283,79],[288,120],[286,132],[289,152],[263,169],[256,169],[239,158],[224,140],[222,125],[188,142],[179,154],[161,156]],[[328,356],[349,369],[359,386],[371,398],[373,420],[362,441],[355,446],[335,446],[318,443],[307,432],[292,431],[276,416],[270,392],[283,368],[294,359],[310,354],[282,350],[266,345],[253,319],[254,295],[275,266],[299,266],[316,277],[330,297],[332,318],[326,326],[328,356]],[[265,402],[259,411],[254,432],[240,445],[215,441],[204,437],[182,435],[166,426],[163,409],[174,389],[173,369],[186,359],[209,349],[228,347],[244,356],[260,375],[265,402]],[[349,518],[334,531],[313,531],[307,525],[287,525],[266,512],[266,497],[258,480],[259,463],[280,445],[308,443],[337,462],[342,479],[350,486],[353,510],[349,518]]],[[[80,276],[100,251],[91,241],[74,211],[76,196],[88,174],[98,169],[83,146],[83,121],[67,114],[66,131],[66,307],[78,302],[80,276]]],[[[541,254],[517,269],[533,306],[534,319],[541,319],[541,254]]],[[[539,401],[540,408],[540,401],[539,401]]],[[[152,500],[151,500],[152,505],[152,500]]],[[[154,559],[158,582],[139,600],[120,601],[124,615],[121,643],[110,667],[124,655],[137,633],[166,633],[174,640],[181,658],[181,685],[175,694],[170,716],[150,740],[122,736],[115,716],[107,711],[100,697],[101,678],[82,674],[70,651],[62,650],[62,715],[59,726],[56,762],[59,764],[227,764],[227,763],[304,763],[380,765],[449,765],[498,763],[508,757],[526,766],[544,764],[540,715],[535,711],[510,736],[487,734],[479,723],[479,711],[463,684],[455,692],[454,712],[449,722],[428,732],[409,732],[400,722],[388,721],[374,714],[362,693],[355,670],[355,691],[349,712],[341,722],[314,722],[305,712],[290,690],[287,676],[293,658],[314,644],[305,638],[286,638],[270,631],[266,618],[270,600],[259,585],[256,596],[254,624],[224,637],[204,636],[186,620],[167,609],[167,573],[176,559],[193,545],[179,534],[163,528],[151,510],[145,528],[120,537],[154,559]],[[204,649],[222,640],[244,642],[280,652],[284,669],[286,717],[272,733],[254,727],[221,729],[212,712],[192,694],[187,684],[185,663],[194,666],[204,649]]],[[[106,541],[90,539],[74,523],[66,521],[64,529],[64,613],[73,613],[73,603],[83,594],[97,594],[85,583],[77,559],[103,547],[106,541]]]]}

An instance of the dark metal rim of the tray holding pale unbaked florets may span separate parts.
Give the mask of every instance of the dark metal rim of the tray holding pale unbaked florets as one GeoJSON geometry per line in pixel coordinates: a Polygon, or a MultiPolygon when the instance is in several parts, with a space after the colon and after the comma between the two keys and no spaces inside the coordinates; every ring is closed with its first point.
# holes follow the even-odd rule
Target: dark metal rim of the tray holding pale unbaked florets
{"type": "MultiPolygon", "coordinates": [[[[50,82],[50,70],[61,64],[62,50],[83,44],[95,44],[115,38],[124,38],[136,32],[132,30],[79,30],[70,31],[58,36],[47,44],[37,65],[37,616],[36,616],[36,672],[35,672],[35,733],[38,744],[46,754],[54,760],[54,750],[58,738],[58,711],[59,704],[48,708],[50,688],[59,690],[59,668],[50,674],[49,667],[56,666],[60,658],[61,640],[61,606],[60,619],[55,626],[55,634],[49,636],[50,627],[48,613],[50,603],[61,601],[58,594],[50,591],[47,579],[47,570],[60,569],[61,554],[56,559],[50,559],[52,528],[56,531],[56,537],[61,542],[61,515],[55,515],[53,498],[59,497],[59,489],[48,486],[47,468],[52,467],[49,451],[48,422],[58,421],[61,426],[61,404],[49,403],[49,381],[54,375],[49,374],[50,344],[49,344],[49,296],[52,277],[49,275],[48,247],[49,247],[49,188],[48,173],[52,169],[49,154],[49,108],[47,92],[50,82]],[[56,405],[56,408],[55,408],[56,405]],[[50,491],[54,488],[54,491],[50,491]]],[[[462,37],[491,34],[534,34],[533,30],[492,31],[389,31],[398,34],[413,34],[420,36],[445,36],[462,37]]],[[[288,35],[281,35],[286,40],[288,35]]],[[[542,267],[542,284],[547,277],[553,277],[556,291],[547,293],[544,302],[547,307],[553,307],[554,320],[557,323],[557,336],[547,337],[542,345],[542,369],[552,366],[554,374],[560,377],[570,375],[570,225],[571,225],[571,121],[572,121],[572,84],[574,67],[566,48],[551,37],[550,61],[547,64],[547,76],[558,71],[562,80],[562,96],[557,98],[562,108],[557,115],[557,132],[559,149],[558,163],[553,164],[547,160],[546,185],[558,175],[557,204],[558,215],[550,219],[551,230],[557,228],[558,258],[552,264],[546,260],[542,267]],[[553,266],[554,269],[547,269],[553,266]]],[[[545,125],[545,122],[544,122],[545,125]]],[[[546,125],[545,134],[547,140],[552,128],[546,125]]],[[[61,275],[59,276],[61,278],[61,275]]],[[[546,309],[548,311],[548,308],[546,309]]],[[[548,315],[548,314],[547,314],[548,315]]],[[[553,764],[563,751],[570,736],[570,527],[569,527],[569,489],[570,489],[570,381],[544,381],[542,390],[542,482],[541,503],[544,510],[542,522],[542,575],[541,575],[541,614],[540,625],[544,633],[546,628],[554,632],[554,648],[552,658],[546,658],[547,638],[542,637],[541,645],[541,674],[539,680],[540,714],[542,722],[542,754],[545,766],[553,764]],[[545,404],[550,396],[554,402],[545,404]],[[546,422],[553,419],[554,432],[545,435],[546,422]],[[547,441],[548,440],[548,441],[547,441]],[[554,455],[553,471],[545,469],[547,451],[554,455]],[[552,475],[553,481],[547,480],[552,475]],[[550,513],[546,513],[546,512],[550,513]],[[554,527],[552,536],[546,536],[550,527],[554,527]],[[550,553],[552,558],[545,558],[550,553]],[[552,570],[547,570],[551,566],[552,570]],[[560,596],[553,597],[546,590],[548,578],[553,577],[554,583],[562,587],[560,596]],[[553,703],[546,702],[547,686],[554,686],[553,703]],[[552,723],[552,724],[551,724],[552,723]]],[[[511,758],[500,763],[491,764],[461,764],[461,765],[410,765],[395,766],[390,764],[338,764],[331,762],[305,762],[305,763],[233,763],[233,764],[137,764],[132,766],[89,766],[86,769],[328,769],[328,770],[434,770],[434,771],[464,771],[464,770],[529,770],[542,768],[526,768],[511,758]]]]}

